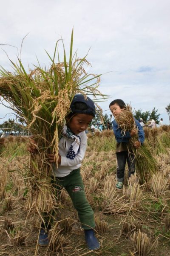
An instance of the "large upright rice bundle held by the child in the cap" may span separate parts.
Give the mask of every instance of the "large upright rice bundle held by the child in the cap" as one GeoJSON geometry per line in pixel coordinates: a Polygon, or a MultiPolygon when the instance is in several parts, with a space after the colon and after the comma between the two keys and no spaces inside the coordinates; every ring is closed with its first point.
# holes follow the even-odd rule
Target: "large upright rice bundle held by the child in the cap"
{"type": "Polygon", "coordinates": [[[18,58],[16,64],[10,60],[14,72],[8,72],[3,67],[0,70],[0,96],[24,120],[37,145],[37,154],[31,154],[30,158],[26,209],[32,207],[42,212],[50,211],[55,204],[47,153],[55,154],[57,164],[58,142],[74,95],[82,93],[94,98],[102,95],[97,89],[100,75],[86,73],[83,64],[89,65],[88,61],[77,58],[77,53],[72,54],[73,31],[68,62],[64,45],[64,61],[60,62],[58,53],[58,63],[55,62],[58,42],[54,56],[47,53],[51,61],[49,68],[38,64],[34,70],[27,72],[18,58]]]}

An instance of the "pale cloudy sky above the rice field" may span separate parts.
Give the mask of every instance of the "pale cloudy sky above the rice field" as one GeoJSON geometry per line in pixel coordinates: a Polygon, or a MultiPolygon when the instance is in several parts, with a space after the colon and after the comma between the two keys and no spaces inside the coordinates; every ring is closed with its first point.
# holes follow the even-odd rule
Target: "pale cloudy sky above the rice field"
{"type": "MultiPolygon", "coordinates": [[[[123,99],[134,110],[155,107],[169,124],[165,110],[170,104],[169,10],[169,0],[1,1],[0,66],[12,71],[6,53],[16,61],[27,34],[20,55],[24,66],[33,67],[37,58],[48,66],[45,50],[53,55],[62,37],[69,53],[74,27],[74,51],[82,58],[90,49],[88,71],[103,74],[99,90],[110,95],[99,103],[104,113],[110,114],[113,99],[123,99]]],[[[12,118],[10,112],[0,105],[0,123],[12,118]]]]}

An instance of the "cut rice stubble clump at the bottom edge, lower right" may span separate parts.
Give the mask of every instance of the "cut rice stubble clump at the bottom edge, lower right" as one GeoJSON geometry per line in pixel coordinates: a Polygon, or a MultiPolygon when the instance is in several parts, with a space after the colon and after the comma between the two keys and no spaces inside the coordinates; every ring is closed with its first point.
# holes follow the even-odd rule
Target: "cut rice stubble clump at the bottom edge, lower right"
{"type": "Polygon", "coordinates": [[[147,236],[147,234],[141,231],[134,232],[134,234],[131,236],[131,240],[133,242],[133,247],[139,256],[150,255],[151,244],[150,238],[147,236]]]}

